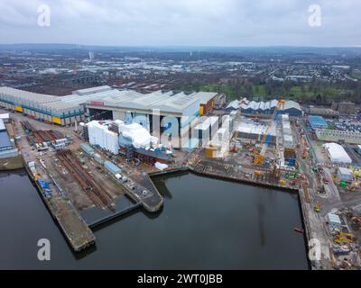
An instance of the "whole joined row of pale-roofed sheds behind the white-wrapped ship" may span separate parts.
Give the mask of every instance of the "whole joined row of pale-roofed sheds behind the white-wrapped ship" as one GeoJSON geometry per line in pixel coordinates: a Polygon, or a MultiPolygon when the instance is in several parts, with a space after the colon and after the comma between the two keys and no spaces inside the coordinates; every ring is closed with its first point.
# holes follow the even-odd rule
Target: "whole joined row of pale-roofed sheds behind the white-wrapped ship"
{"type": "Polygon", "coordinates": [[[60,97],[0,87],[0,106],[59,125],[84,121],[86,112],[91,120],[125,120],[125,112],[129,111],[135,121],[149,130],[153,127],[152,115],[159,112],[163,129],[178,125],[183,135],[197,121],[199,112],[207,113],[213,109],[214,101],[220,95],[172,91],[141,94],[105,85],[77,90],[60,97]]]}

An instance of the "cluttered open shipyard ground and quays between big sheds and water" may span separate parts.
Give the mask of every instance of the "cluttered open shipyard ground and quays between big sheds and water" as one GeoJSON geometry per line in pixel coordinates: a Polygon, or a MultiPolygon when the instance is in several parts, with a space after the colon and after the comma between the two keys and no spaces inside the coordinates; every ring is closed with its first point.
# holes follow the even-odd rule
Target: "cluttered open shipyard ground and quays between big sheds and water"
{"type": "MultiPolygon", "coordinates": [[[[298,195],[303,225],[294,232],[306,243],[314,238],[320,243],[320,257],[310,257],[310,266],[359,268],[361,169],[344,157],[332,160],[338,152],[314,138],[299,105],[285,103],[273,102],[262,117],[257,112],[245,115],[242,103],[230,112],[206,112],[203,107],[204,115],[191,119],[189,132],[182,131],[191,135],[182,147],[171,144],[180,142],[171,133],[167,140],[155,137],[150,122],[136,121],[134,112],[116,120],[88,117],[69,127],[17,110],[11,118],[24,166],[75,251],[94,245],[91,229],[108,220],[138,209],[161,211],[163,199],[153,175],[190,170],[298,195]],[[117,207],[119,198],[126,198],[128,206],[117,207]],[[87,221],[82,215],[89,209],[106,213],[87,221]]],[[[191,106],[194,110],[199,103],[191,106]]],[[[166,133],[171,124],[165,126],[166,133]]]]}

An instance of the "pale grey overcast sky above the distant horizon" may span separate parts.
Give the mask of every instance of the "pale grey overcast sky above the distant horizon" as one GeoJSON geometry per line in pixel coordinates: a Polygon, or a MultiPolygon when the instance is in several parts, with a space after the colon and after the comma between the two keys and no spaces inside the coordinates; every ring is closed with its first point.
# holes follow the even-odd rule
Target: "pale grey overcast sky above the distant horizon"
{"type": "Polygon", "coordinates": [[[361,0],[0,0],[0,43],[361,46],[360,13],[361,0]]]}

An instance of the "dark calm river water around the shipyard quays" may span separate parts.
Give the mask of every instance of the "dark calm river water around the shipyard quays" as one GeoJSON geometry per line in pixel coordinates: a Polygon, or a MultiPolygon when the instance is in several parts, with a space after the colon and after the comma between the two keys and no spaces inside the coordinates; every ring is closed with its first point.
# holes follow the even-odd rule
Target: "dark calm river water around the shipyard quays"
{"type": "Polygon", "coordinates": [[[296,195],[192,174],[154,184],[161,212],[113,221],[74,255],[26,173],[0,173],[0,269],[308,269],[296,195]],[[40,238],[51,261],[37,258],[40,238]]]}

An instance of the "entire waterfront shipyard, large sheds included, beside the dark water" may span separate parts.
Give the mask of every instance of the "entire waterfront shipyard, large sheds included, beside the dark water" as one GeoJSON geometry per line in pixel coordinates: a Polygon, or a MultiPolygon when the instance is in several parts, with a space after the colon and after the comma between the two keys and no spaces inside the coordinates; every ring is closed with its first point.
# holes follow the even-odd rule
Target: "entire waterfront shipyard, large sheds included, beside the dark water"
{"type": "Polygon", "coordinates": [[[294,233],[321,243],[311,268],[359,266],[356,121],[325,119],[285,99],[226,103],[220,93],[110,86],[62,97],[0,87],[0,105],[4,158],[23,158],[74,251],[95,245],[92,229],[106,222],[161,211],[153,177],[189,171],[298,195],[303,224],[294,233]],[[118,198],[128,204],[117,207],[118,198]],[[103,216],[88,219],[89,209],[103,216]]]}

